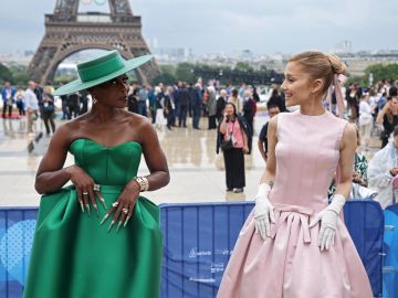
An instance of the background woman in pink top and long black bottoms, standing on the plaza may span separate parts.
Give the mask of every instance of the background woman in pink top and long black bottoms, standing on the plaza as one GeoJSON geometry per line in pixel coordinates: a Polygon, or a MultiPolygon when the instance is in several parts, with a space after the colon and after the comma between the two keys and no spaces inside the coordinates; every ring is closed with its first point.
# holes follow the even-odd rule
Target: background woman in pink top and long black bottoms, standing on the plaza
{"type": "Polygon", "coordinates": [[[223,118],[218,128],[217,153],[222,141],[232,140],[232,148],[223,150],[227,191],[243,192],[245,187],[244,153],[249,153],[249,126],[237,113],[232,103],[226,105],[223,118]]]}

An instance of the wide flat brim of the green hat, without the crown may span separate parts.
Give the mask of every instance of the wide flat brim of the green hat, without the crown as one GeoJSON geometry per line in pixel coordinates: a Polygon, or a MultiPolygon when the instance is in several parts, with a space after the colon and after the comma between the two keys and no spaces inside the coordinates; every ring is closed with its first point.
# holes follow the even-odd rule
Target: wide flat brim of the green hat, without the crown
{"type": "Polygon", "coordinates": [[[84,89],[94,87],[94,86],[105,83],[112,78],[115,78],[119,75],[123,75],[129,71],[133,71],[134,68],[137,68],[140,65],[147,63],[151,58],[153,58],[153,55],[145,55],[145,56],[139,56],[136,58],[127,60],[127,61],[125,61],[125,66],[114,73],[111,73],[106,76],[102,76],[102,77],[98,77],[96,79],[88,81],[88,82],[82,82],[80,78],[77,78],[77,79],[72,81],[71,83],[57,88],[54,92],[54,95],[56,95],[56,96],[66,95],[66,94],[71,94],[71,93],[75,93],[75,92],[80,92],[80,91],[84,91],[84,89]]]}

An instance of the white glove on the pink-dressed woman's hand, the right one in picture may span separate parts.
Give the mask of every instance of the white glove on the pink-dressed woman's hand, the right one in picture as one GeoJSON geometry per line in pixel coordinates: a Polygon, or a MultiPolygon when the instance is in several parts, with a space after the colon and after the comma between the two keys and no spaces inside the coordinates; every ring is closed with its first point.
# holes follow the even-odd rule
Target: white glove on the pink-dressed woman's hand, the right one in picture
{"type": "Polygon", "coordinates": [[[345,202],[346,199],[342,194],[335,194],[332,203],[321,211],[310,224],[310,227],[313,227],[321,221],[321,230],[317,238],[317,245],[321,247],[321,252],[334,245],[338,214],[342,212],[345,202]]]}

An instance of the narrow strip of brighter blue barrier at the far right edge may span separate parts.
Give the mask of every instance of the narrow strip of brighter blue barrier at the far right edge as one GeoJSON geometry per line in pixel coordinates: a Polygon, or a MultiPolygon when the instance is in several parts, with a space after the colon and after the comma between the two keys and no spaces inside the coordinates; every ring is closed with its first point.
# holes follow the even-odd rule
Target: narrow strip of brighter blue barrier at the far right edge
{"type": "Polygon", "coordinates": [[[383,297],[398,297],[398,204],[385,210],[385,258],[383,297]]]}

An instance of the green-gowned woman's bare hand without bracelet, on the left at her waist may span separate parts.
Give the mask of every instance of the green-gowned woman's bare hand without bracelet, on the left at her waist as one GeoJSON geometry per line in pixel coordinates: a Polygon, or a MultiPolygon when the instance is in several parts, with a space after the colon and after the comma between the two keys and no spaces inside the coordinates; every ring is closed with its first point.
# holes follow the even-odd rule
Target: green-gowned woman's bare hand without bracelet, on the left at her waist
{"type": "Polygon", "coordinates": [[[95,181],[82,168],[75,164],[66,168],[66,172],[70,174],[71,181],[76,188],[77,200],[81,205],[82,212],[84,212],[84,207],[86,207],[88,215],[91,214],[90,203],[88,203],[88,198],[90,198],[90,201],[93,204],[97,216],[100,216],[95,195],[98,196],[98,200],[101,201],[101,203],[104,205],[105,209],[107,209],[107,206],[102,193],[97,189],[97,184],[95,184],[95,181]]]}

